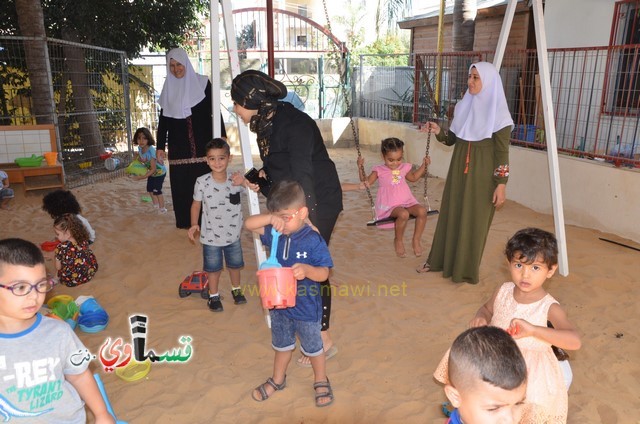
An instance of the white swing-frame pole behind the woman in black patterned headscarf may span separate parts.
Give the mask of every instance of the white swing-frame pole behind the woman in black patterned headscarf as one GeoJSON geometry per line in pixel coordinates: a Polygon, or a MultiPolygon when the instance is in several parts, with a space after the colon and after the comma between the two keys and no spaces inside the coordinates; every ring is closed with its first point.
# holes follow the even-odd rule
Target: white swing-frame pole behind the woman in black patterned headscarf
{"type": "MultiPolygon", "coordinates": [[[[229,52],[229,64],[231,67],[231,77],[234,78],[236,75],[240,73],[240,58],[238,57],[238,43],[236,42],[236,34],[233,25],[233,8],[231,7],[230,0],[220,0],[220,5],[222,6],[222,22],[224,25],[227,50],[229,52]]],[[[211,63],[212,63],[212,72],[213,72],[213,63],[217,63],[217,75],[220,75],[220,38],[219,38],[219,22],[218,22],[218,2],[211,2],[211,63]],[[214,44],[215,42],[215,44],[214,44]]],[[[218,81],[218,90],[216,91],[216,96],[218,97],[218,101],[214,102],[220,105],[220,78],[217,78],[218,81]]],[[[216,117],[219,118],[220,113],[218,115],[213,115],[213,120],[215,122],[216,117]]],[[[253,168],[253,157],[251,156],[251,144],[249,140],[249,130],[243,122],[241,122],[240,117],[236,117],[236,125],[238,128],[238,136],[240,138],[240,152],[242,153],[242,163],[244,165],[244,169],[248,170],[253,168]]],[[[260,213],[260,204],[258,202],[258,194],[247,190],[248,198],[249,198],[249,214],[256,215],[260,213]]],[[[260,237],[257,234],[253,234],[253,247],[256,254],[257,264],[261,264],[262,262],[267,260],[267,255],[262,247],[262,243],[260,242],[260,237]]],[[[269,317],[269,311],[264,310],[265,312],[265,321],[268,327],[271,327],[271,320],[269,317]]]]}

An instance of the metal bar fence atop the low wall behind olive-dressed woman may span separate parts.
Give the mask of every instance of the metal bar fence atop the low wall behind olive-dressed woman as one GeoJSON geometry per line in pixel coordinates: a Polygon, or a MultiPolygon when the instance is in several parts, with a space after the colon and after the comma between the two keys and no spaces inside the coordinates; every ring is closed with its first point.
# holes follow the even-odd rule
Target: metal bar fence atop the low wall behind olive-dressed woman
{"type": "MultiPolygon", "coordinates": [[[[354,115],[445,127],[466,90],[469,65],[494,52],[361,56],[354,115]],[[409,66],[398,66],[398,59],[409,66]],[[391,66],[383,60],[395,60],[391,66]]],[[[640,46],[551,49],[552,101],[562,154],[640,167],[640,46]]],[[[508,51],[500,69],[515,128],[512,144],[546,149],[535,50],[508,51]]]]}

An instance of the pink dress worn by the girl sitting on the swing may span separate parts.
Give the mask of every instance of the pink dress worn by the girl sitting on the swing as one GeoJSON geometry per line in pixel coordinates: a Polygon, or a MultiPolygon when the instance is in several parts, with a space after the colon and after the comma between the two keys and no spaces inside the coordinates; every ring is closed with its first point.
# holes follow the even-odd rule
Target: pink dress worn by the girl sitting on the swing
{"type": "MultiPolygon", "coordinates": [[[[388,218],[394,208],[408,208],[419,204],[411,193],[405,176],[411,171],[410,163],[402,163],[398,169],[377,165],[373,171],[378,174],[378,194],[376,196],[376,217],[388,218]]],[[[391,224],[393,226],[393,224],[391,224]]]]}

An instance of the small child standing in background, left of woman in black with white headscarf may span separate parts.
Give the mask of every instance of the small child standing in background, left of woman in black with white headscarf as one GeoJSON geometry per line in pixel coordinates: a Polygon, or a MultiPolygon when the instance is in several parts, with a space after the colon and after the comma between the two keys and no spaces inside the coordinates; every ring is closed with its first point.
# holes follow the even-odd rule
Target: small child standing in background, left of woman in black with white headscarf
{"type": "Polygon", "coordinates": [[[167,168],[156,158],[156,142],[147,128],[138,128],[133,135],[133,144],[138,146],[135,159],[146,165],[148,171],[144,175],[132,176],[134,180],[147,179],[147,192],[153,201],[153,207],[162,214],[167,213],[164,207],[162,184],[167,176],[167,168]]]}

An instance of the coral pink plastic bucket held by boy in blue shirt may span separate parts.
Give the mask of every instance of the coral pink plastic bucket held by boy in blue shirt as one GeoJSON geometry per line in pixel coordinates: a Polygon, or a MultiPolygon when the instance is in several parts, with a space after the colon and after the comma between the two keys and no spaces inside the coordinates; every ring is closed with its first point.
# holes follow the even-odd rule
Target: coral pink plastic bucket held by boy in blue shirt
{"type": "Polygon", "coordinates": [[[298,282],[291,268],[267,268],[256,272],[262,307],[284,309],[296,306],[298,282]]]}

